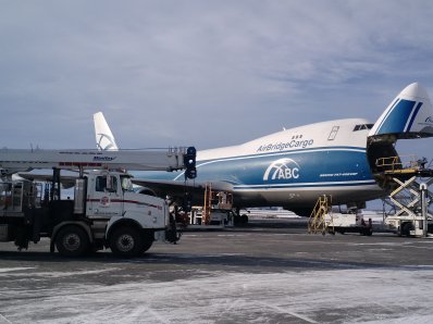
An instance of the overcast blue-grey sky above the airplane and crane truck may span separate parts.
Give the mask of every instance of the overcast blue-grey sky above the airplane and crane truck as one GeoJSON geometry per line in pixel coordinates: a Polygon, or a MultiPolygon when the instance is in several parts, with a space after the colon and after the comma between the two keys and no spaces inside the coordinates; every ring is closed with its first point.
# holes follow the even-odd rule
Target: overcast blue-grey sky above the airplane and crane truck
{"type": "Polygon", "coordinates": [[[122,148],[206,149],[433,96],[428,0],[0,4],[0,147],[94,148],[102,111],[122,148]]]}

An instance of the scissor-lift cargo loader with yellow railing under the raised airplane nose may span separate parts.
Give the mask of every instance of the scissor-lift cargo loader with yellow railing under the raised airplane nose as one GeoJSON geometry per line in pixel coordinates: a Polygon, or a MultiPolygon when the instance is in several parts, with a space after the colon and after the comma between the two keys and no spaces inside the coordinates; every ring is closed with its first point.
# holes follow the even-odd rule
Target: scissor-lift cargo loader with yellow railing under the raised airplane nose
{"type": "Polygon", "coordinates": [[[376,176],[393,188],[387,203],[394,212],[384,214],[384,229],[400,236],[428,236],[433,232],[433,215],[428,209],[433,198],[428,189],[433,183],[433,170],[425,164],[425,159],[415,157],[409,162],[398,157],[376,161],[385,170],[376,176]]]}

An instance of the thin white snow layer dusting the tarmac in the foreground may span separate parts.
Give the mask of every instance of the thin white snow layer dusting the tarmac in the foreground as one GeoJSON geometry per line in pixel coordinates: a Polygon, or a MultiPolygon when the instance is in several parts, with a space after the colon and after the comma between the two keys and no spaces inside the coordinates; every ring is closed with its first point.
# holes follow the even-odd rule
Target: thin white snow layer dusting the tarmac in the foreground
{"type": "Polygon", "coordinates": [[[433,323],[433,271],[422,267],[202,275],[0,288],[0,323],[433,323]]]}

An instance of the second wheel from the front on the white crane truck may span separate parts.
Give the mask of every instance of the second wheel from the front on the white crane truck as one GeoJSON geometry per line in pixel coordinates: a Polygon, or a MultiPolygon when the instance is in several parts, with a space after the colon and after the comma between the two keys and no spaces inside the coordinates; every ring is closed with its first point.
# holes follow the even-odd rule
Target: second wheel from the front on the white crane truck
{"type": "Polygon", "coordinates": [[[81,257],[90,249],[87,233],[77,226],[65,226],[55,237],[55,247],[64,257],[81,257]]]}

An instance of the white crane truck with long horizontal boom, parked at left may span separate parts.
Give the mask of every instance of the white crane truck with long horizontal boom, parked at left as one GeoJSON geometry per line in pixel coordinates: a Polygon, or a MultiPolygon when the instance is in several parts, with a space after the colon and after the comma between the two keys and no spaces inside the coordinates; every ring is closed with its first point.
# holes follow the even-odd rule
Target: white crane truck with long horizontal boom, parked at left
{"type": "Polygon", "coordinates": [[[154,240],[178,239],[168,202],[134,191],[131,175],[121,170],[181,170],[185,149],[148,151],[0,150],[0,241],[27,248],[41,237],[51,251],[78,257],[110,248],[121,257],[135,257],[154,240]],[[12,180],[17,171],[52,169],[45,189],[40,183],[12,180]],[[74,199],[60,192],[61,170],[78,170],[74,199]],[[113,171],[114,170],[114,171],[113,171]]]}

